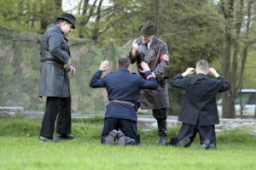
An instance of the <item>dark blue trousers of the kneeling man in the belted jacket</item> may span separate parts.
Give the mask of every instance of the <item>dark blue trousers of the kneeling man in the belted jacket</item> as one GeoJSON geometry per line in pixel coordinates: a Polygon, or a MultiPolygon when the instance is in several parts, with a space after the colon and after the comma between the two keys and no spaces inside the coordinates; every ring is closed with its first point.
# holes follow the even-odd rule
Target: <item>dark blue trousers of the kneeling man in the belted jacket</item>
{"type": "Polygon", "coordinates": [[[128,119],[105,118],[102,130],[102,144],[105,143],[106,137],[113,129],[117,131],[120,130],[125,134],[126,137],[135,139],[137,144],[141,142],[137,134],[137,122],[128,119]]]}

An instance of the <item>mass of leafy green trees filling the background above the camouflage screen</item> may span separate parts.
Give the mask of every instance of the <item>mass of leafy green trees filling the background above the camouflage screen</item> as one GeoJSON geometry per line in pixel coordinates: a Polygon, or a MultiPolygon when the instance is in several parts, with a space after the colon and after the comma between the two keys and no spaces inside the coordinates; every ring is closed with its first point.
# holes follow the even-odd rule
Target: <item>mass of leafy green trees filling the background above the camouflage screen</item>
{"type": "MultiPolygon", "coordinates": [[[[167,72],[170,77],[188,66],[195,66],[198,59],[207,59],[210,64],[216,60],[223,62],[224,77],[232,84],[232,90],[224,96],[224,116],[234,116],[232,105],[236,92],[244,84],[247,54],[256,39],[253,0],[77,2],[72,9],[63,11],[62,0],[1,1],[0,25],[42,33],[62,12],[69,12],[77,18],[72,37],[88,38],[98,47],[115,42],[131,48],[132,40],[139,36],[139,26],[151,20],[158,27],[157,36],[169,46],[171,68],[167,72]]],[[[170,93],[173,108],[173,104],[180,103],[182,95],[172,89],[170,93]]]]}

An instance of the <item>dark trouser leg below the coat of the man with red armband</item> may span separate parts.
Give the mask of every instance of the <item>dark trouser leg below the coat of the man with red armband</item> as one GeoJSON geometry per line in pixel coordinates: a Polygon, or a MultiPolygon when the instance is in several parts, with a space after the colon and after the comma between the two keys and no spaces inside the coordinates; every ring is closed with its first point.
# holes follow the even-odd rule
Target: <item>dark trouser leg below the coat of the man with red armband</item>
{"type": "Polygon", "coordinates": [[[154,109],[153,116],[157,120],[158,134],[160,137],[167,137],[166,133],[166,108],[154,109]]]}

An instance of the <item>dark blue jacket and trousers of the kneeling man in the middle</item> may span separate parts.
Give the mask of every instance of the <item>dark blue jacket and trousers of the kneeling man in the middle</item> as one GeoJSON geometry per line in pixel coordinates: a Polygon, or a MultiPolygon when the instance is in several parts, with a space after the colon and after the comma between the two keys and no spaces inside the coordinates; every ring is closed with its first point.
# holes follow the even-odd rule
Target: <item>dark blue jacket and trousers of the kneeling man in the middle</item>
{"type": "MultiPolygon", "coordinates": [[[[150,71],[145,72],[145,77],[150,75],[150,71]]],[[[141,89],[157,88],[155,78],[151,77],[147,81],[139,75],[131,74],[126,68],[120,68],[117,72],[101,77],[102,71],[96,71],[91,78],[90,87],[106,88],[108,92],[109,104],[104,118],[102,143],[105,143],[106,137],[113,129],[121,129],[126,137],[135,139],[136,144],[139,144],[137,111],[134,103],[141,89]]]]}

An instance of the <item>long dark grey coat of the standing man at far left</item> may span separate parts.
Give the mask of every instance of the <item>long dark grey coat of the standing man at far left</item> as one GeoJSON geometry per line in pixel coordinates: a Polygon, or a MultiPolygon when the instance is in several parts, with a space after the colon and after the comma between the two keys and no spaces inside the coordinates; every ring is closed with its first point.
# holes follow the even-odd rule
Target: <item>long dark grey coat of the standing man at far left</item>
{"type": "Polygon", "coordinates": [[[41,38],[38,96],[70,96],[67,71],[63,69],[71,58],[67,42],[61,28],[56,25],[51,25],[41,38]]]}

